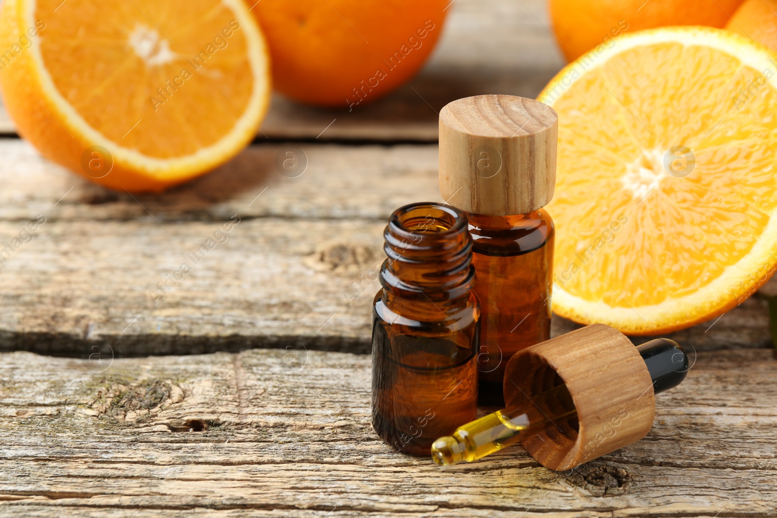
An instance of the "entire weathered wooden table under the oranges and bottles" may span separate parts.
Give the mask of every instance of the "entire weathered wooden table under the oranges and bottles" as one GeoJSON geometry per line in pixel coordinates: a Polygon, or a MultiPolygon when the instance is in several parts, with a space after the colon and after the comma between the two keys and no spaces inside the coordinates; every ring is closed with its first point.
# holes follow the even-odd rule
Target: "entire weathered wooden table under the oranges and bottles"
{"type": "MultiPolygon", "coordinates": [[[[536,96],[563,66],[539,0],[450,9],[430,63],[389,98],[352,113],[274,99],[267,138],[161,196],[86,183],[0,120],[0,249],[45,218],[0,267],[0,513],[777,515],[774,283],[676,333],[695,363],[653,430],[576,470],[520,447],[441,470],[372,432],[381,232],[403,203],[440,200],[436,112],[536,96]],[[274,165],[290,149],[308,160],[297,178],[274,165]]],[[[574,327],[554,319],[554,334],[574,327]]]]}

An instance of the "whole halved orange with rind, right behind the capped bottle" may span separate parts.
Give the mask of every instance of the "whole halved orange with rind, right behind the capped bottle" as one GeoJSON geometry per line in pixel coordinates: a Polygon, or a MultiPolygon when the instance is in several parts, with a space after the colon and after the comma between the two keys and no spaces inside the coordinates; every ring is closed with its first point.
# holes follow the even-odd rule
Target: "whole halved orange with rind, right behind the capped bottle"
{"type": "Polygon", "coordinates": [[[721,315],[777,264],[777,54],[726,30],[622,36],[559,114],[553,310],[650,335],[721,315]]]}

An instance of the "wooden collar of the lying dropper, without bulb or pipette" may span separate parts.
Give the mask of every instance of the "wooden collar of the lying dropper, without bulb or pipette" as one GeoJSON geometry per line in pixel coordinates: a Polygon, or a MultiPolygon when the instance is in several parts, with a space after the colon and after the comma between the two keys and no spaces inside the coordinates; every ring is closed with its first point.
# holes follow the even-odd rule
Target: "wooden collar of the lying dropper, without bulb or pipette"
{"type": "Polygon", "coordinates": [[[568,470],[642,439],[653,426],[656,400],[645,361],[609,325],[594,324],[515,353],[504,373],[507,406],[527,403],[561,377],[577,409],[523,440],[532,457],[568,470]]]}

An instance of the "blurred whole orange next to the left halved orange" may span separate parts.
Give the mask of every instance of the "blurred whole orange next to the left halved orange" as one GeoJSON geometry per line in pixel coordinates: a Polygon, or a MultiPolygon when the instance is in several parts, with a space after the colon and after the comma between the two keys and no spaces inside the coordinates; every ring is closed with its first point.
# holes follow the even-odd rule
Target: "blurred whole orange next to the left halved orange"
{"type": "MultiPolygon", "coordinates": [[[[253,0],[248,0],[253,3],[253,0]]],[[[284,95],[353,109],[391,92],[426,61],[450,0],[262,0],[273,83],[284,95]]]]}

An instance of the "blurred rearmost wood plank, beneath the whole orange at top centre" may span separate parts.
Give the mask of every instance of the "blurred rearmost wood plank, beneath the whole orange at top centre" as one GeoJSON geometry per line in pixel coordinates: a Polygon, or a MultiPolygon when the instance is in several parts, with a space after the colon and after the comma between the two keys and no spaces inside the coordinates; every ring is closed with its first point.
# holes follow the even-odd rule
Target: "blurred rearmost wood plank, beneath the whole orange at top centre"
{"type": "MultiPolygon", "coordinates": [[[[436,112],[446,103],[484,93],[534,98],[563,66],[545,0],[455,0],[448,11],[437,49],[407,85],[353,111],[345,99],[326,110],[274,96],[257,140],[437,141],[436,112]]],[[[0,134],[14,132],[0,109],[0,134]]]]}

